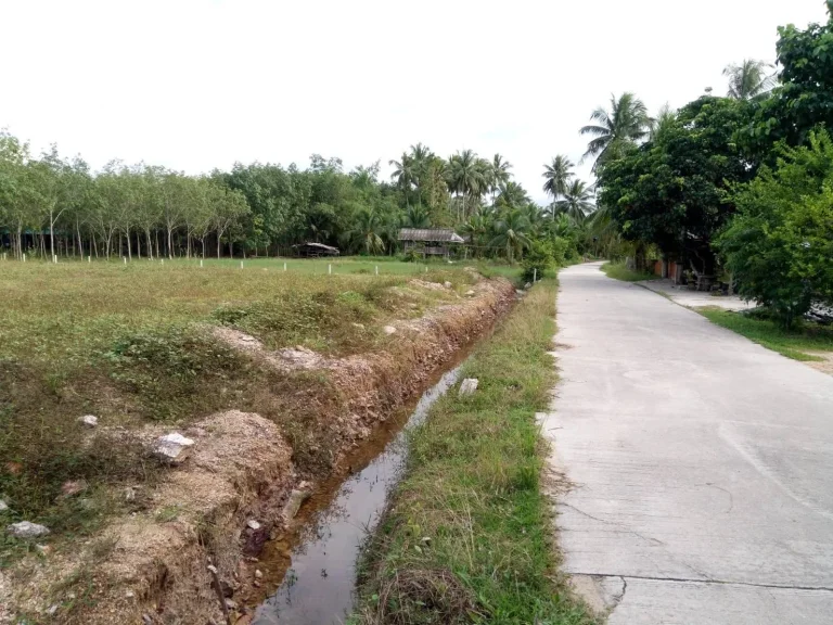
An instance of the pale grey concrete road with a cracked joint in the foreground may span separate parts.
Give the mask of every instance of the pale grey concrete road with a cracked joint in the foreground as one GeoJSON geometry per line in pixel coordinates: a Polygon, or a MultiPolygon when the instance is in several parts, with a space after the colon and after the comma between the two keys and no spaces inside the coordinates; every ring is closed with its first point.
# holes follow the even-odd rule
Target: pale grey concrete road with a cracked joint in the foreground
{"type": "Polygon", "coordinates": [[[833,377],[599,264],[561,273],[566,572],[611,625],[833,624],[833,377]]]}

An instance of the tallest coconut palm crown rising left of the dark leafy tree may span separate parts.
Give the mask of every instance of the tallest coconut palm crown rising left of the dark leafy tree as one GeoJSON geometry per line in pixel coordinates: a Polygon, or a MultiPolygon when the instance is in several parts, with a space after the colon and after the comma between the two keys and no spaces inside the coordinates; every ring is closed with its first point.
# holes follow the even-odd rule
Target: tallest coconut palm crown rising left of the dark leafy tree
{"type": "Polygon", "coordinates": [[[581,162],[595,158],[593,173],[606,161],[620,155],[628,145],[648,137],[651,125],[645,104],[629,91],[618,99],[611,94],[611,110],[600,106],[592,112],[590,119],[595,124],[582,127],[579,133],[593,137],[581,157],[581,162]]]}

